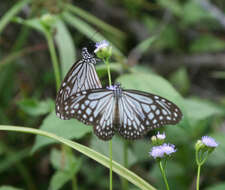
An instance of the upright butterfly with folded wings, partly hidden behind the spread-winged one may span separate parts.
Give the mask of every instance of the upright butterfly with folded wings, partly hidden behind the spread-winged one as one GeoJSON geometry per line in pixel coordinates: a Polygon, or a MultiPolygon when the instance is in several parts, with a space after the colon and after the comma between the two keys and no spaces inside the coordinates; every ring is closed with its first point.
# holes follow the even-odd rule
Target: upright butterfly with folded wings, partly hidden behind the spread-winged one
{"type": "Polygon", "coordinates": [[[102,88],[94,67],[96,64],[95,49],[95,43],[89,43],[87,47],[84,47],[81,53],[82,58],[66,74],[56,96],[55,109],[58,117],[69,119],[62,108],[64,101],[70,96],[82,90],[102,88]]]}

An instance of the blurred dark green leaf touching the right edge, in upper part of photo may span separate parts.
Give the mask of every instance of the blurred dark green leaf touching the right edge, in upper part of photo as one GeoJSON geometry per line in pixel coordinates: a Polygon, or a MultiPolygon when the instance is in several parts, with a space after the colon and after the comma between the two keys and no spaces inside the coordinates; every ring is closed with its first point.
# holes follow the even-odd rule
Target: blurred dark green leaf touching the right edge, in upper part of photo
{"type": "Polygon", "coordinates": [[[191,52],[218,52],[225,49],[225,42],[212,35],[201,35],[190,46],[191,52]]]}

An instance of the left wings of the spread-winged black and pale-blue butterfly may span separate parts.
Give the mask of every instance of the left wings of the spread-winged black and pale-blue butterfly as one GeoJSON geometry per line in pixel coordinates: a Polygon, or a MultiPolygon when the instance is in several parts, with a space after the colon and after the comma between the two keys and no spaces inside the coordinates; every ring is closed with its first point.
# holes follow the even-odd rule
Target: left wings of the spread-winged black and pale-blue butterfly
{"type": "Polygon", "coordinates": [[[85,124],[93,125],[94,133],[102,140],[112,138],[115,133],[113,91],[107,89],[81,91],[70,96],[64,103],[67,118],[76,118],[85,124]]]}

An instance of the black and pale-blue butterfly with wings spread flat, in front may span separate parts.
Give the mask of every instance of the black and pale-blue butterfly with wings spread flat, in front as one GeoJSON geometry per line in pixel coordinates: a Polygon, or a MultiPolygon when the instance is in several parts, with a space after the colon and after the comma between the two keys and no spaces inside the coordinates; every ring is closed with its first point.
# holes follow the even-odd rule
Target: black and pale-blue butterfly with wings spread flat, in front
{"type": "MultiPolygon", "coordinates": [[[[102,140],[110,140],[115,132],[125,139],[138,139],[149,130],[177,124],[180,109],[158,95],[123,90],[120,84],[106,89],[83,90],[63,101],[61,119],[76,118],[94,126],[102,140]]],[[[58,108],[59,110],[59,108],[58,108]]]]}

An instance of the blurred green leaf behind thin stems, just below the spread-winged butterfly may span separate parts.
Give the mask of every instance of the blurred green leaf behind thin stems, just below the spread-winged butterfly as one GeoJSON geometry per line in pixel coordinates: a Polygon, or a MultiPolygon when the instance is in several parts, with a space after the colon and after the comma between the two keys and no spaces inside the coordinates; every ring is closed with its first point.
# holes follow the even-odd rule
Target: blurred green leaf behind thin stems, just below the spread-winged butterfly
{"type": "MultiPolygon", "coordinates": [[[[120,164],[124,164],[123,159],[123,140],[119,138],[118,136],[114,136],[112,139],[112,147],[113,147],[113,160],[120,164]]],[[[109,155],[109,144],[105,141],[99,140],[96,136],[93,136],[91,140],[91,148],[94,150],[102,153],[103,155],[108,156],[109,155]]],[[[128,166],[131,166],[137,161],[136,156],[131,152],[131,150],[128,148],[128,166]]]]}

